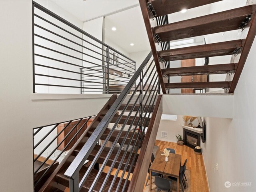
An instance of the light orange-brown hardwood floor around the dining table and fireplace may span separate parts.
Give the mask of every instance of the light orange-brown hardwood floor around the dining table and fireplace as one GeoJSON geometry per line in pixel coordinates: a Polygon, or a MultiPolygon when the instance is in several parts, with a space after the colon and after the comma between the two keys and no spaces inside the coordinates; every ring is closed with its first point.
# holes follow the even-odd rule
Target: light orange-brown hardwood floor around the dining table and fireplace
{"type": "Polygon", "coordinates": [[[157,146],[160,147],[160,151],[164,148],[172,148],[176,154],[181,155],[181,164],[188,159],[186,164],[187,169],[190,170],[191,179],[191,192],[208,192],[208,182],[206,179],[206,171],[204,168],[204,160],[202,155],[194,154],[194,150],[185,145],[178,145],[173,142],[165,142],[156,140],[157,146]]]}

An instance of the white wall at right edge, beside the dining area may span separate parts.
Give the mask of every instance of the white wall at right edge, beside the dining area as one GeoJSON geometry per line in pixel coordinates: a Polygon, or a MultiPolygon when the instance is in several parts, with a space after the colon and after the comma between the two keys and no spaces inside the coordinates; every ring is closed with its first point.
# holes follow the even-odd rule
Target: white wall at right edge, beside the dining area
{"type": "Polygon", "coordinates": [[[210,190],[256,191],[255,140],[255,53],[256,40],[234,92],[234,118],[206,118],[204,162],[210,190]],[[218,163],[219,171],[213,167],[218,163]],[[252,182],[251,187],[225,188],[224,182],[252,182]]]}

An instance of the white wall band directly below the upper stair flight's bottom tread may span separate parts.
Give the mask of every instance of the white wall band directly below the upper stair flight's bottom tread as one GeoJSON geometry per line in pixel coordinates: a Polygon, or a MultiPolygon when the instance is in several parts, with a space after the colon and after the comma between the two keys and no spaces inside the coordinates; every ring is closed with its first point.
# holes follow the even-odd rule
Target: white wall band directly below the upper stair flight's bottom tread
{"type": "Polygon", "coordinates": [[[163,114],[233,118],[233,95],[164,94],[163,114]]]}

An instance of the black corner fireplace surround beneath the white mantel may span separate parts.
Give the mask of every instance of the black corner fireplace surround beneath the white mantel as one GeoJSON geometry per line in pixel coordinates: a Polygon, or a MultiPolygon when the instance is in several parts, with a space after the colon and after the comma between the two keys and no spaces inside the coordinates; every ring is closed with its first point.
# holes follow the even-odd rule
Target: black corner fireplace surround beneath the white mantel
{"type": "Polygon", "coordinates": [[[184,128],[183,138],[184,138],[184,144],[190,148],[194,149],[196,146],[200,146],[200,139],[201,139],[200,133],[184,128]]]}

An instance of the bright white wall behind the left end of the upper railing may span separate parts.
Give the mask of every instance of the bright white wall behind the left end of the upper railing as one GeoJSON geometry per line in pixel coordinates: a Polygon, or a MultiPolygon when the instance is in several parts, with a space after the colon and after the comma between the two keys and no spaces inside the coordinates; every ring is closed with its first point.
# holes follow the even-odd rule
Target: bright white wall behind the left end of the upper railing
{"type": "MultiPolygon", "coordinates": [[[[78,28],[82,28],[82,21],[75,18],[72,14],[67,12],[66,10],[60,8],[52,1],[36,1],[42,6],[48,8],[52,12],[58,14],[62,18],[68,20],[78,28]]],[[[46,18],[50,22],[53,22],[54,24],[57,24],[58,26],[64,28],[65,30],[68,30],[75,34],[76,36],[79,36],[82,38],[82,34],[80,32],[77,32],[76,30],[68,27],[66,24],[63,24],[62,22],[54,19],[52,16],[38,10],[38,8],[34,9],[35,14],[38,14],[39,16],[42,16],[43,18],[46,18]]],[[[57,34],[60,34],[61,36],[64,36],[64,38],[68,38],[69,40],[72,40],[80,45],[82,45],[82,40],[79,38],[68,34],[67,32],[64,32],[63,30],[60,30],[53,26],[52,24],[49,24],[48,22],[45,22],[41,20],[40,18],[35,17],[34,23],[38,24],[39,26],[42,26],[52,32],[55,32],[57,34]]],[[[70,48],[73,48],[75,50],[78,50],[80,52],[76,52],[74,50],[71,50],[69,48],[65,48],[64,46],[57,45],[53,42],[50,42],[48,40],[44,40],[43,38],[40,38],[38,36],[35,36],[34,42],[35,44],[39,44],[42,46],[45,46],[47,48],[60,51],[65,54],[69,54],[71,56],[74,56],[78,59],[71,58],[69,56],[65,56],[63,54],[58,54],[56,52],[47,50],[45,48],[41,48],[38,46],[35,46],[35,54],[40,54],[43,56],[48,56],[54,59],[62,60],[64,62],[70,62],[72,64],[77,64],[82,66],[82,47],[78,46],[72,42],[69,42],[68,40],[64,40],[63,38],[60,38],[50,32],[47,32],[46,30],[43,30],[37,26],[34,28],[35,34],[38,34],[40,36],[43,36],[45,38],[48,38],[50,40],[56,41],[58,43],[63,44],[64,46],[68,46],[70,48]]],[[[78,66],[72,66],[63,62],[57,62],[54,60],[46,59],[40,56],[35,56],[35,63],[36,64],[42,64],[46,66],[56,67],[56,68],[62,68],[66,70],[71,70],[74,72],[80,72],[80,67],[78,66]]],[[[80,74],[71,73],[71,72],[64,72],[61,70],[55,70],[50,69],[46,67],[41,66],[35,66],[35,73],[37,74],[44,74],[44,75],[50,75],[50,76],[59,76],[59,77],[65,77],[65,78],[72,78],[80,80],[80,74]]],[[[57,84],[57,85],[65,85],[65,86],[78,86],[80,87],[80,82],[75,80],[64,80],[59,78],[51,78],[51,77],[45,77],[45,76],[35,76],[35,82],[40,84],[57,84]]],[[[56,86],[39,86],[36,85],[36,93],[80,93],[80,88],[65,88],[65,87],[56,87],[56,86]]]]}

